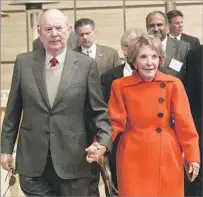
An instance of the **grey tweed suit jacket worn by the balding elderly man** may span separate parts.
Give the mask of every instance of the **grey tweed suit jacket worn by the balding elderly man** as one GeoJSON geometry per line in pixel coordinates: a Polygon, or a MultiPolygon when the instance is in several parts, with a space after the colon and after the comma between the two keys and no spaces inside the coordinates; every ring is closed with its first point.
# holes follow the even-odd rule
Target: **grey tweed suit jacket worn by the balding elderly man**
{"type": "Polygon", "coordinates": [[[112,128],[100,89],[96,62],[67,50],[63,74],[53,106],[45,83],[45,51],[17,56],[7,111],[2,127],[1,152],[13,152],[16,137],[16,168],[19,174],[38,177],[43,173],[48,150],[56,173],[63,179],[89,176],[85,148],[92,135],[86,110],[94,115],[96,137],[110,149],[112,128]],[[21,112],[22,124],[19,128],[21,112]]]}

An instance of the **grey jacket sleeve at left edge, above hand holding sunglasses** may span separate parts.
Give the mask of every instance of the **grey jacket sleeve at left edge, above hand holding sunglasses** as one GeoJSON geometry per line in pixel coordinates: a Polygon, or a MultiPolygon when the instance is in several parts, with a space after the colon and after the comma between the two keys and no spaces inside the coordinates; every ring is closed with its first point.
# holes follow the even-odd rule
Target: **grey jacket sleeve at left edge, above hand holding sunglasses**
{"type": "Polygon", "coordinates": [[[6,106],[6,114],[2,125],[1,153],[12,154],[18,134],[22,113],[22,99],[20,91],[20,65],[16,58],[11,89],[6,106]]]}

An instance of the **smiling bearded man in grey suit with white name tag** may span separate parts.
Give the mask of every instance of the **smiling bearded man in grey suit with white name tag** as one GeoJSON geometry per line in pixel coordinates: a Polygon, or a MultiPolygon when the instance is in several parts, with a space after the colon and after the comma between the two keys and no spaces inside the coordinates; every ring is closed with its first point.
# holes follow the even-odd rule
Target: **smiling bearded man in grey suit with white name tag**
{"type": "Polygon", "coordinates": [[[168,20],[162,11],[153,11],[146,17],[146,27],[149,34],[162,41],[166,52],[165,64],[160,67],[164,73],[171,74],[183,80],[186,71],[186,57],[190,48],[188,43],[167,36],[168,20]]]}

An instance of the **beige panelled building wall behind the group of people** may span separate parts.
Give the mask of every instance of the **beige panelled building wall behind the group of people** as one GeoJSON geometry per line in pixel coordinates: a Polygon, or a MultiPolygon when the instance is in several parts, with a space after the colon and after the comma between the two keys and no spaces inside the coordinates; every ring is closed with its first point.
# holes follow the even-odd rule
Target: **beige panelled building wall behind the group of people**
{"type": "MultiPolygon", "coordinates": [[[[1,18],[2,89],[10,87],[16,54],[27,51],[25,6],[10,5],[11,2],[11,0],[1,1],[2,11],[9,14],[9,17],[1,18]]],[[[203,0],[177,0],[176,3],[176,8],[184,13],[184,32],[198,37],[203,42],[203,0]]],[[[122,57],[120,38],[124,30],[129,28],[145,30],[146,15],[153,10],[165,11],[165,4],[164,0],[67,0],[43,5],[43,9],[47,8],[62,9],[72,24],[81,17],[92,18],[96,23],[97,42],[116,48],[122,57]]]]}

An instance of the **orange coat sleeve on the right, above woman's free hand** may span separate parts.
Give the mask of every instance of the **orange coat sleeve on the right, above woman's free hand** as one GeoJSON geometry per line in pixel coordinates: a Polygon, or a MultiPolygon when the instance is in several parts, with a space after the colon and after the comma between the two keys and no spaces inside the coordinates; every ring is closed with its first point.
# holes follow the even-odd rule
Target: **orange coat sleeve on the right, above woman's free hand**
{"type": "Polygon", "coordinates": [[[186,162],[200,162],[198,134],[192,118],[189,101],[180,80],[174,83],[172,93],[175,131],[186,162]]]}

